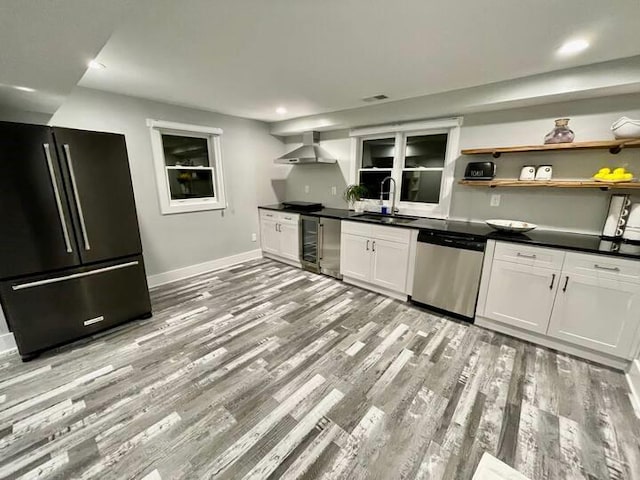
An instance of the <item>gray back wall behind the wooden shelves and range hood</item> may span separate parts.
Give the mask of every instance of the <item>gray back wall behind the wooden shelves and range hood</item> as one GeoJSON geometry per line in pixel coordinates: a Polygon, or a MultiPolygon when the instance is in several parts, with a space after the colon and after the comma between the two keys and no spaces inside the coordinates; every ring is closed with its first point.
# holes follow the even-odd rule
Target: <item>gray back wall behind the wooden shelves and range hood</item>
{"type": "MultiPolygon", "coordinates": [[[[460,148],[540,144],[553,128],[554,119],[570,117],[576,141],[613,138],[609,127],[622,115],[640,118],[640,95],[620,95],[589,100],[576,100],[500,112],[471,114],[464,117],[460,148]]],[[[429,118],[429,112],[424,112],[429,118]]],[[[391,120],[390,120],[391,121],[391,120]]],[[[299,137],[288,137],[287,150],[299,145],[299,137]]],[[[337,196],[329,194],[332,185],[348,183],[353,165],[347,130],[322,132],[320,143],[331,153],[340,155],[339,165],[286,167],[283,175],[286,197],[292,200],[321,201],[327,206],[345,208],[340,187],[337,196]],[[304,185],[310,192],[304,193],[304,185]]],[[[511,154],[499,159],[460,156],[456,160],[456,181],[464,176],[470,161],[493,160],[499,177],[517,178],[523,165],[552,165],[555,178],[588,178],[603,166],[622,166],[640,176],[640,149],[629,149],[618,155],[606,150],[511,154]]],[[[282,181],[282,180],[281,180],[282,181]]],[[[537,223],[547,228],[600,233],[606,213],[609,192],[579,189],[489,189],[454,185],[451,218],[482,221],[488,218],[514,218],[537,223]],[[501,195],[499,207],[489,206],[493,193],[501,195]]],[[[638,198],[637,201],[640,201],[638,198]]]]}

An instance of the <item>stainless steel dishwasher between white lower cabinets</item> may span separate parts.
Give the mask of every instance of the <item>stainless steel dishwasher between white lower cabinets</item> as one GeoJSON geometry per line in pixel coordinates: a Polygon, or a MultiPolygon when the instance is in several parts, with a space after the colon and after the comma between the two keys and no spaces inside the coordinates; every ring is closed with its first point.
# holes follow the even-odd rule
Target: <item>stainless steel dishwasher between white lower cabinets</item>
{"type": "Polygon", "coordinates": [[[421,231],[411,301],[473,321],[486,244],[480,236],[421,231]]]}

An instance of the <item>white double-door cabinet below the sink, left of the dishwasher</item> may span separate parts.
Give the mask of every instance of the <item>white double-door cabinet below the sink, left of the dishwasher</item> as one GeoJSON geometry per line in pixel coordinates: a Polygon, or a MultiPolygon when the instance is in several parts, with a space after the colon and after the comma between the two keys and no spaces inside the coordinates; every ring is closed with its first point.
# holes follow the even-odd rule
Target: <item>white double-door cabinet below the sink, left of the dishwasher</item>
{"type": "Polygon", "coordinates": [[[411,231],[342,222],[340,273],[383,292],[407,293],[411,231]]]}

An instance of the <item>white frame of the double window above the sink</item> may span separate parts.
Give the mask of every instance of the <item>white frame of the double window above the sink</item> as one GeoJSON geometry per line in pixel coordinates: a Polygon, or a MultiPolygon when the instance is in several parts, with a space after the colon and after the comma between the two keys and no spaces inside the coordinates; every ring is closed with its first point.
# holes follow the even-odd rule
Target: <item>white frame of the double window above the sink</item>
{"type": "MultiPolygon", "coordinates": [[[[389,138],[395,135],[395,155],[393,159],[393,168],[391,177],[396,182],[396,191],[394,197],[396,200],[396,208],[401,214],[415,215],[420,217],[449,218],[451,209],[451,193],[453,191],[455,161],[460,154],[460,126],[462,118],[430,120],[425,122],[411,122],[400,125],[388,125],[371,128],[354,129],[351,131],[352,152],[354,154],[354,170],[352,183],[359,183],[360,171],[375,169],[362,168],[362,145],[365,140],[376,138],[389,138]],[[402,174],[404,171],[433,171],[440,170],[438,168],[405,168],[405,155],[407,146],[407,137],[420,135],[438,135],[447,134],[447,146],[445,151],[444,165],[442,167],[442,178],[440,180],[440,201],[438,203],[423,202],[407,202],[401,201],[402,191],[402,174]]],[[[381,169],[378,169],[381,170],[381,169]]],[[[384,204],[391,206],[391,198],[384,200],[384,204]]]]}

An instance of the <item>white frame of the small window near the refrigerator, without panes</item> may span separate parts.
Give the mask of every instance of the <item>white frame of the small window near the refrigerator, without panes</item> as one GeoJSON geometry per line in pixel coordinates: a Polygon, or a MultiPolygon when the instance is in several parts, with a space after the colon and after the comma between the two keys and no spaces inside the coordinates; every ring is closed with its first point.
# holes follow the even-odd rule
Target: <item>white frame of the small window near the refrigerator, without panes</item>
{"type": "Polygon", "coordinates": [[[166,122],[147,119],[151,134],[151,149],[156,173],[156,186],[162,215],[199,212],[204,210],[222,210],[227,208],[224,171],[222,162],[222,129],[186,123],[166,122]],[[162,135],[204,138],[207,140],[209,166],[170,166],[166,164],[162,135]],[[213,182],[212,197],[172,199],[169,182],[169,170],[210,170],[213,182]]]}

